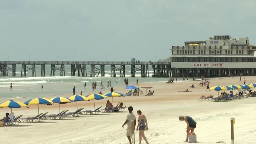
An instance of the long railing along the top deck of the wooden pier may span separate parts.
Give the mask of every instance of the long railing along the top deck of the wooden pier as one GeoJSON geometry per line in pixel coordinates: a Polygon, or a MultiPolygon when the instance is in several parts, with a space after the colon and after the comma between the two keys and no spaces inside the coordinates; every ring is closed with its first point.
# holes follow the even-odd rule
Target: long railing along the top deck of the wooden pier
{"type": "Polygon", "coordinates": [[[0,61],[0,64],[170,65],[171,62],[129,61],[0,61]]]}

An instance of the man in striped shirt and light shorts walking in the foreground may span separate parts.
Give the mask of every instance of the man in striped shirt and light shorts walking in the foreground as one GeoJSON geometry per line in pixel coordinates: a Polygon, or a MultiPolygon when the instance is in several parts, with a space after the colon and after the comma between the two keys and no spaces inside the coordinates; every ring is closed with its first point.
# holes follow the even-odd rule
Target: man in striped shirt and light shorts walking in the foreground
{"type": "Polygon", "coordinates": [[[133,111],[133,107],[132,106],[128,107],[128,111],[129,111],[129,114],[127,115],[126,120],[125,120],[124,124],[122,125],[122,127],[124,128],[124,125],[127,124],[126,136],[127,136],[128,140],[129,140],[129,143],[132,144],[132,141],[131,141],[131,137],[132,137],[132,121],[134,121],[134,127],[135,127],[136,126],[136,117],[132,113],[132,111],[133,111]]]}

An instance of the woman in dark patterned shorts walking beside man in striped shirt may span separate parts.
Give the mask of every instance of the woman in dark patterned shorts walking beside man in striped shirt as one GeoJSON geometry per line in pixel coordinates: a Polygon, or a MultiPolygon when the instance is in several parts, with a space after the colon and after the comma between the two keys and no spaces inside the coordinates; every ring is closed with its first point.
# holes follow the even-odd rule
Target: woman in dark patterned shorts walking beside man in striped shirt
{"type": "Polygon", "coordinates": [[[147,138],[144,134],[144,130],[148,130],[147,118],[144,114],[142,114],[142,112],[140,110],[137,111],[137,114],[139,115],[139,118],[138,118],[139,123],[137,125],[136,130],[140,130],[139,131],[139,140],[140,140],[139,144],[141,144],[142,137],[148,144],[147,138]]]}

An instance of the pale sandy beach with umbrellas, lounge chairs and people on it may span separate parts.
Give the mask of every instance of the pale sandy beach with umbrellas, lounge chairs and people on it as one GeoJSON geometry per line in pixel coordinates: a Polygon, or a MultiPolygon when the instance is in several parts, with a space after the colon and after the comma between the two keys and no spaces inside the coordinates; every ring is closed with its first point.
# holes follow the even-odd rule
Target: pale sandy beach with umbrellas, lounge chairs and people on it
{"type": "MultiPolygon", "coordinates": [[[[255,83],[256,77],[242,77],[246,83],[255,83]]],[[[166,79],[167,80],[167,79],[166,79]]],[[[210,79],[210,87],[231,84],[242,84],[239,77],[226,77],[220,79],[210,79]]],[[[189,115],[197,122],[195,133],[198,143],[211,144],[223,141],[231,143],[230,118],[235,118],[234,141],[236,144],[253,144],[256,141],[256,98],[243,98],[228,102],[199,101],[202,95],[218,95],[216,91],[206,91],[206,87],[189,88],[192,84],[197,86],[199,81],[149,83],[155,91],[154,96],[125,96],[114,98],[114,106],[118,102],[123,102],[126,106],[133,106],[133,113],[141,110],[148,119],[148,131],[145,135],[150,144],[176,144],[184,143],[187,126],[185,122],[179,121],[179,115],[189,115]],[[187,88],[192,92],[184,91],[187,88]]],[[[139,83],[138,87],[145,83],[139,83]]],[[[124,84],[114,87],[117,92],[126,93],[124,84]]],[[[142,89],[144,94],[145,89],[142,89]]],[[[97,90],[98,92],[99,90],[97,90]]],[[[102,91],[109,92],[109,89],[102,91]]],[[[234,90],[237,93],[237,90],[234,90]]],[[[83,94],[86,95],[86,94],[83,94]]],[[[69,94],[64,96],[70,96],[69,94]]],[[[50,98],[45,96],[45,98],[50,98]]],[[[15,99],[25,102],[28,98],[15,99]]],[[[107,100],[112,102],[112,98],[95,101],[96,107],[105,106],[107,100]]],[[[3,102],[4,100],[0,100],[3,102]]],[[[49,114],[59,113],[59,105],[52,106],[39,105],[40,112],[49,114]]],[[[78,102],[79,108],[93,110],[93,101],[78,102]]],[[[76,110],[76,103],[61,105],[61,110],[76,110]]],[[[9,108],[0,109],[1,117],[9,108]]],[[[23,115],[23,118],[37,115],[37,105],[30,108],[13,109],[16,116],[23,115]]],[[[38,123],[20,123],[15,126],[5,126],[0,128],[1,143],[20,144],[128,144],[126,127],[122,124],[126,119],[128,110],[120,113],[99,113],[98,115],[82,115],[81,117],[65,118],[64,120],[46,120],[38,123]]],[[[139,143],[138,131],[135,132],[135,143],[139,143]]],[[[146,144],[142,141],[142,144],[146,144]]]]}

